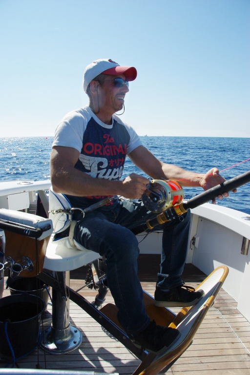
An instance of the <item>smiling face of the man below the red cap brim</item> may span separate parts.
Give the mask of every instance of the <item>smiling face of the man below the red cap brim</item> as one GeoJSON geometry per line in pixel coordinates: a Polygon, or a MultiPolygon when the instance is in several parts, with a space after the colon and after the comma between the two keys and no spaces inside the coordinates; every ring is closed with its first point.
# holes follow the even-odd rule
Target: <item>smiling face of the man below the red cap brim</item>
{"type": "Polygon", "coordinates": [[[104,80],[104,84],[100,84],[100,86],[98,87],[100,108],[112,114],[123,109],[125,94],[129,91],[126,84],[121,87],[115,86],[115,78],[122,78],[123,80],[125,80],[125,75],[107,75],[104,80]]]}

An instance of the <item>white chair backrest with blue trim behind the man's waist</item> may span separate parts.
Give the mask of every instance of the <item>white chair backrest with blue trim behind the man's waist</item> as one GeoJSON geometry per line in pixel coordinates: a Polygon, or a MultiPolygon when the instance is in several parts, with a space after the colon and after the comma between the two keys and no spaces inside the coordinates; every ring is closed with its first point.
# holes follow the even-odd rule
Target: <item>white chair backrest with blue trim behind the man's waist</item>
{"type": "Polygon", "coordinates": [[[49,219],[53,223],[53,233],[60,233],[70,226],[70,218],[67,213],[62,210],[70,210],[72,208],[68,198],[61,193],[55,193],[50,187],[49,189],[49,219]]]}

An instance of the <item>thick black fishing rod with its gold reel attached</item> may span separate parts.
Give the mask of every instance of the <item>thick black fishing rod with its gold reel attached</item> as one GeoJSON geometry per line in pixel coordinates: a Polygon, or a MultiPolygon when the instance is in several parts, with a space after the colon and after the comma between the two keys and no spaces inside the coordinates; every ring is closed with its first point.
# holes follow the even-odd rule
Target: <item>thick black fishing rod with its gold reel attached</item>
{"type": "Polygon", "coordinates": [[[145,224],[131,229],[131,231],[134,234],[139,234],[145,230],[153,229],[159,224],[167,223],[183,215],[187,212],[187,209],[198,207],[217,198],[218,195],[223,195],[223,193],[232,191],[249,182],[250,170],[211,187],[183,203],[184,191],[176,181],[151,180],[142,195],[142,201],[146,208],[158,213],[158,215],[151,220],[147,220],[145,224]]]}

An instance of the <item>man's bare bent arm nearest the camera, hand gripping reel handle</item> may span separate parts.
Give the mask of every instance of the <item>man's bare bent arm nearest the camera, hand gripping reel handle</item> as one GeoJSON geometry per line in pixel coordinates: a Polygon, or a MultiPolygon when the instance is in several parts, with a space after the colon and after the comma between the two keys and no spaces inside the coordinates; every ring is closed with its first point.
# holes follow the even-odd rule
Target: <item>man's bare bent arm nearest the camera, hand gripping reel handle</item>
{"type": "Polygon", "coordinates": [[[50,177],[53,190],[75,196],[123,195],[140,198],[148,180],[132,173],[123,181],[98,179],[75,168],[79,151],[72,147],[55,146],[50,156],[50,177]]]}

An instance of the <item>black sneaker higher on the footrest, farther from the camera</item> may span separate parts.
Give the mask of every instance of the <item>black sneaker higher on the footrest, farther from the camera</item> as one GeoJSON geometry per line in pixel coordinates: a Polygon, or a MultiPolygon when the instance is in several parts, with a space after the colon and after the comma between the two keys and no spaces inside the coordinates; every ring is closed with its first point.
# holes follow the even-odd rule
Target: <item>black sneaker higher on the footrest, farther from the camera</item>
{"type": "Polygon", "coordinates": [[[195,292],[195,289],[186,285],[170,289],[168,292],[156,288],[154,293],[155,306],[162,307],[185,307],[193,306],[204,296],[204,291],[200,289],[195,292]]]}

